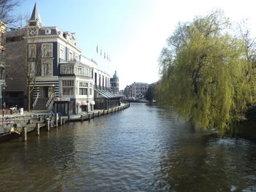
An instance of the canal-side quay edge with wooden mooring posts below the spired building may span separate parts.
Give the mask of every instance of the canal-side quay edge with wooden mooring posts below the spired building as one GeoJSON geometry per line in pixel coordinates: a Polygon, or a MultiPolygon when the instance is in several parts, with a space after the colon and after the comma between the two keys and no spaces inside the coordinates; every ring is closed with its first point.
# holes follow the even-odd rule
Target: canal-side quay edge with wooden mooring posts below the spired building
{"type": "Polygon", "coordinates": [[[113,107],[109,110],[94,110],[94,112],[61,117],[56,117],[53,112],[15,115],[12,116],[12,121],[1,124],[0,142],[17,137],[23,137],[23,141],[26,141],[29,133],[34,132],[39,136],[42,128],[46,131],[50,131],[50,128],[57,128],[69,121],[91,120],[92,118],[99,118],[102,115],[125,110],[129,106],[129,104],[121,104],[121,106],[113,107]]]}

